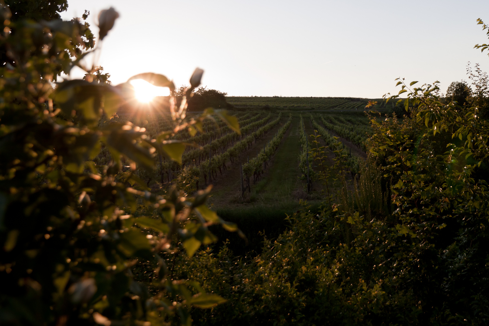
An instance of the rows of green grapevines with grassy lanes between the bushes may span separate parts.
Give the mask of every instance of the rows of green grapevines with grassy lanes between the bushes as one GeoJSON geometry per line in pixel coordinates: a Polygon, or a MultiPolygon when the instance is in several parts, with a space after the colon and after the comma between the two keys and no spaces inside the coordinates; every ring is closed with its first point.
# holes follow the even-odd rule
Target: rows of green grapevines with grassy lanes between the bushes
{"type": "MultiPolygon", "coordinates": [[[[300,199],[319,203],[326,190],[335,196],[342,186],[335,174],[341,172],[351,182],[360,171],[366,157],[365,141],[372,133],[363,112],[342,115],[247,110],[236,111],[234,116],[240,133],[219,119],[207,119],[202,133],[189,129],[172,136],[191,144],[182,153],[181,162],[157,156],[154,168],[137,172],[140,183],[153,191],[177,185],[189,194],[212,184],[215,196],[210,200],[217,209],[265,205],[269,195],[278,191],[282,196],[275,198],[275,203],[288,202],[293,211],[300,199]],[[324,147],[325,161],[317,159],[319,145],[314,141],[324,147]],[[283,155],[287,155],[284,161],[275,159],[283,155]],[[290,172],[280,175],[284,170],[290,172]],[[292,194],[300,194],[293,204],[292,194]]],[[[150,134],[172,129],[168,116],[145,119],[150,134]]],[[[103,164],[109,156],[99,156],[97,164],[103,164]]]]}

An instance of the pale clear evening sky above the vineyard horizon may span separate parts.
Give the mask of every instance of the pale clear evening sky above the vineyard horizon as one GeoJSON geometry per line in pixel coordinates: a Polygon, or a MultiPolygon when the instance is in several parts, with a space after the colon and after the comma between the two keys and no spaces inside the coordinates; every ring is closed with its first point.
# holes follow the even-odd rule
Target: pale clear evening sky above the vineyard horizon
{"type": "MultiPolygon", "coordinates": [[[[446,88],[468,80],[467,62],[489,71],[474,49],[489,43],[488,0],[167,1],[68,0],[64,19],[100,10],[120,14],[102,41],[98,64],[114,85],[155,72],[188,85],[196,67],[202,86],[229,96],[392,94],[396,78],[446,88]]],[[[93,58],[89,58],[91,63],[93,58]]],[[[74,70],[72,78],[81,76],[74,70]]]]}

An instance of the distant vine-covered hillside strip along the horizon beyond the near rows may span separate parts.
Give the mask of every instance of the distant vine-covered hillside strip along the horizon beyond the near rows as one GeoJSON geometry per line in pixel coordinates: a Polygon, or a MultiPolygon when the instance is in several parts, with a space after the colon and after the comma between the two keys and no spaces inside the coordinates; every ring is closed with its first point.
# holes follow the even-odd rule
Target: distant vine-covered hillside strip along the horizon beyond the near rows
{"type": "MultiPolygon", "coordinates": [[[[281,97],[281,96],[227,96],[226,101],[236,109],[317,109],[363,110],[372,99],[355,97],[281,97]]],[[[383,109],[382,99],[376,109],[383,109]]],[[[389,103],[388,108],[391,107],[389,103]]]]}

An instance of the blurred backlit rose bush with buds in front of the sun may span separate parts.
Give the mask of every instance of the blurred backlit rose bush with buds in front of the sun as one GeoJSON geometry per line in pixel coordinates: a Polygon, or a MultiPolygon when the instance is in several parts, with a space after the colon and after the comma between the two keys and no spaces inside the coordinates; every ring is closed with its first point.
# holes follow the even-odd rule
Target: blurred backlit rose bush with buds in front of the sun
{"type": "MultiPolygon", "coordinates": [[[[170,137],[183,129],[203,132],[210,114],[239,131],[237,120],[209,109],[184,121],[185,98],[170,107],[167,132],[152,135],[108,119],[121,105],[135,105],[132,87],[111,86],[97,73],[100,67],[80,63],[97,50],[87,25],[9,21],[3,3],[1,14],[1,46],[15,65],[0,68],[0,323],[163,325],[177,314],[189,325],[191,306],[223,300],[198,283],[169,280],[165,255],[192,256],[201,243],[215,240],[209,225],[236,226],[205,206],[210,189],[196,196],[175,188],[154,194],[136,171],[151,169],[156,155],[181,161],[186,143],[170,137]],[[86,70],[85,80],[51,86],[75,65],[86,70]],[[104,151],[105,165],[95,164],[104,151]],[[151,284],[137,275],[145,261],[156,263],[151,284]]],[[[101,33],[115,14],[101,13],[101,33]]],[[[192,85],[200,77],[197,71],[192,85]]],[[[137,78],[175,88],[163,75],[131,79],[137,78]]]]}

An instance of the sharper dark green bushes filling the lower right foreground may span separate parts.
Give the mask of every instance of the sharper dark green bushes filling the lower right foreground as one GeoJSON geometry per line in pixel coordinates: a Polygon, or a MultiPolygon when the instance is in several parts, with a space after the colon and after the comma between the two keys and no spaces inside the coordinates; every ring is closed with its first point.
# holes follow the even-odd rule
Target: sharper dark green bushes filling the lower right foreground
{"type": "Polygon", "coordinates": [[[475,108],[444,103],[437,84],[401,85],[410,117],[370,117],[370,159],[334,212],[305,207],[256,256],[235,257],[224,244],[172,260],[176,280],[193,273],[228,300],[192,311],[194,320],[488,323],[489,123],[475,108]]]}

